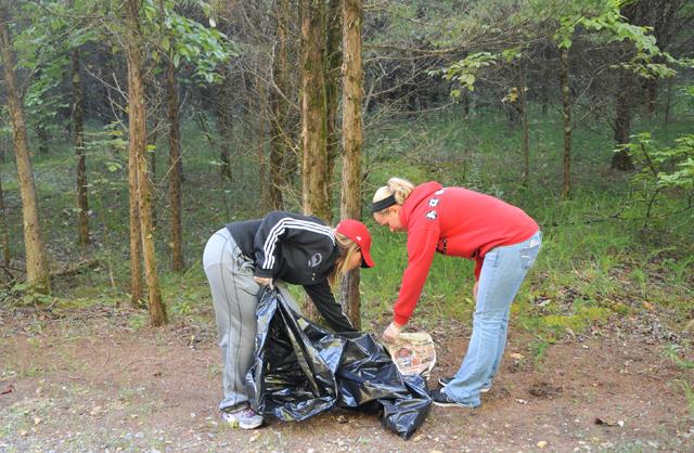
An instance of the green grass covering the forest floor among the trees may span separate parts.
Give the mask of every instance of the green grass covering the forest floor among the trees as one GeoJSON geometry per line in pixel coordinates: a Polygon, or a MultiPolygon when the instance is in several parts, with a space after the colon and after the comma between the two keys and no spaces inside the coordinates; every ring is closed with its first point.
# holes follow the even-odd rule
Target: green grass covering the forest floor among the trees
{"type": "MultiPolygon", "coordinates": [[[[634,132],[652,128],[651,118],[637,118],[634,132]]],[[[459,113],[429,116],[375,126],[365,137],[364,199],[388,177],[401,176],[423,182],[436,179],[500,196],[522,207],[540,223],[544,241],[536,267],[528,275],[512,309],[516,327],[537,340],[529,346],[541,359],[547,347],[566,334],[579,334],[608,322],[613,315],[643,310],[643,301],[671,309],[681,324],[692,318],[694,299],[694,222],[661,219],[641,228],[639,207],[629,197],[629,176],[607,171],[613,143],[604,125],[577,128],[574,133],[570,199],[560,199],[562,127],[556,115],[531,113],[531,176],[520,181],[520,131],[493,111],[479,111],[468,120],[459,113]],[[626,207],[625,207],[626,206],[626,207]],[[630,209],[630,216],[626,216],[630,209]],[[689,238],[689,240],[687,240],[689,238]]],[[[691,129],[691,118],[681,113],[655,135],[672,140],[691,129]]],[[[241,151],[233,163],[232,181],[218,178],[218,151],[210,148],[194,121],[183,124],[184,251],[188,270],[169,269],[166,208],[166,145],[157,148],[155,233],[162,292],[170,316],[211,325],[209,289],[201,268],[208,236],[235,219],[258,217],[259,187],[255,152],[241,151]]],[[[164,143],[164,141],[163,141],[164,143]]],[[[247,150],[243,139],[236,150],[247,150]]],[[[53,266],[95,258],[98,269],[56,282],[56,305],[128,303],[128,195],[126,154],[103,143],[88,148],[90,226],[94,244],[75,246],[76,216],[73,211],[70,146],[56,143],[51,154],[34,158],[41,226],[53,266]]],[[[8,205],[11,237],[21,237],[21,202],[11,163],[0,166],[8,205]]],[[[287,194],[288,195],[288,194],[287,194]]],[[[288,197],[296,199],[296,197],[288,197]]],[[[669,207],[683,197],[671,197],[669,207]]],[[[299,209],[293,205],[290,209],[299,209]]],[[[686,216],[686,213],[684,213],[686,216]]],[[[690,213],[691,216],[691,213],[690,213]]],[[[407,263],[406,236],[376,225],[364,212],[374,236],[377,268],[361,273],[362,316],[386,322],[397,299],[407,263]]],[[[12,241],[12,256],[24,254],[22,241],[12,241]]],[[[470,323],[474,301],[473,262],[436,256],[414,314],[417,325],[454,319],[470,323]]],[[[300,290],[297,293],[300,294],[300,290]]],[[[134,314],[132,328],[147,322],[146,312],[134,314]]],[[[40,327],[39,327],[40,328],[40,327]]],[[[515,328],[515,327],[514,327],[515,328]]]]}

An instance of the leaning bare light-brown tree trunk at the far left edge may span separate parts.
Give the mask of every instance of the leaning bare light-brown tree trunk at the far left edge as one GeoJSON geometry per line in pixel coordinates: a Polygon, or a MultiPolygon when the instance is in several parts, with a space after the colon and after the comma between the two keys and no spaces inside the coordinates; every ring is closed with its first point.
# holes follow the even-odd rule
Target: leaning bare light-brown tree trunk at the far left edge
{"type": "Polygon", "coordinates": [[[38,202],[34,172],[29,158],[29,147],[24,120],[24,108],[14,74],[14,51],[8,23],[10,14],[7,0],[0,1],[0,52],[4,66],[4,82],[8,96],[8,109],[12,118],[12,138],[17,167],[17,181],[22,197],[22,218],[24,222],[24,246],[26,249],[26,275],[28,283],[41,293],[49,293],[49,270],[46,247],[41,238],[38,202]]]}

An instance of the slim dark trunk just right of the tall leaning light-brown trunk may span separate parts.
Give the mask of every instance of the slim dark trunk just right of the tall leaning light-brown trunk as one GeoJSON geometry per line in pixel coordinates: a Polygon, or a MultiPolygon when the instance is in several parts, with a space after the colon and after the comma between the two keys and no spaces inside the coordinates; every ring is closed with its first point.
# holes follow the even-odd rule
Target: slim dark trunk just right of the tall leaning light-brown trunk
{"type": "Polygon", "coordinates": [[[171,269],[181,271],[183,262],[183,225],[181,220],[181,174],[178,163],[181,158],[181,132],[178,120],[178,87],[174,60],[167,66],[169,92],[169,204],[171,206],[171,269]]]}

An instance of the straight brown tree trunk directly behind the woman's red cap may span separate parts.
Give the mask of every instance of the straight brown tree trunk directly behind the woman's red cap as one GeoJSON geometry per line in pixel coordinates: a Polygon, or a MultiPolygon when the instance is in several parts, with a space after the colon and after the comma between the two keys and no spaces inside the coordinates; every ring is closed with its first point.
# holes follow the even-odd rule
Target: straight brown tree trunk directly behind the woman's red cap
{"type": "MultiPolygon", "coordinates": [[[[361,146],[363,127],[363,69],[361,61],[362,0],[343,2],[343,186],[340,217],[361,219],[361,146]]],[[[359,268],[343,280],[343,308],[357,329],[361,328],[359,268]]]]}

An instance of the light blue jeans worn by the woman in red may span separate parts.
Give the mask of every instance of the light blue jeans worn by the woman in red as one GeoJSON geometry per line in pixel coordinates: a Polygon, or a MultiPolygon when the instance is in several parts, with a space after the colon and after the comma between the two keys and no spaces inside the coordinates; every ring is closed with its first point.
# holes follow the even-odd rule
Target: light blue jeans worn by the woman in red
{"type": "Polygon", "coordinates": [[[538,231],[527,241],[497,247],[485,255],[467,353],[453,380],[445,387],[450,399],[470,407],[481,404],[479,390],[491,386],[506,346],[511,303],[541,244],[542,233],[538,231]]]}

